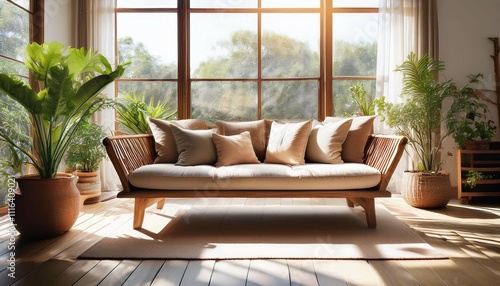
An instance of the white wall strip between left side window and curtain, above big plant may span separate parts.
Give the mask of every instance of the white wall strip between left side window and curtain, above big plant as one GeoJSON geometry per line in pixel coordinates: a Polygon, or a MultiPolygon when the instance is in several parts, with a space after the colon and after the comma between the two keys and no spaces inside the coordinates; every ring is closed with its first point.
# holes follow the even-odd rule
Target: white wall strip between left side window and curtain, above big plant
{"type": "Polygon", "coordinates": [[[45,42],[75,46],[77,0],[45,0],[45,42]]]}

